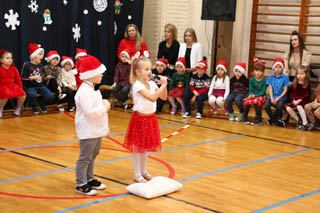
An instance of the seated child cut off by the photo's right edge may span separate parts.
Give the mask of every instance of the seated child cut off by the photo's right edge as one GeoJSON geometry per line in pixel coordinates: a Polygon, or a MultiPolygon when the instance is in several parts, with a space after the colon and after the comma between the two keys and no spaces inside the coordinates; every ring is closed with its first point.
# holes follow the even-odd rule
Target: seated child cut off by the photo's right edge
{"type": "Polygon", "coordinates": [[[311,131],[316,126],[316,121],[320,120],[320,85],[317,87],[316,97],[314,101],[306,104],[304,106],[304,109],[306,110],[309,120],[307,130],[311,131]]]}

